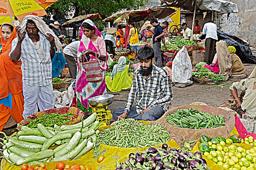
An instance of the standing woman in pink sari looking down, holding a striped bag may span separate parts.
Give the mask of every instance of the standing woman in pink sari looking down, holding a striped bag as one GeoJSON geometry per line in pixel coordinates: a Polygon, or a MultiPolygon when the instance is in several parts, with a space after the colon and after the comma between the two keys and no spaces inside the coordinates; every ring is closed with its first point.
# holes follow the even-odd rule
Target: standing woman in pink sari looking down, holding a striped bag
{"type": "MultiPolygon", "coordinates": [[[[88,99],[91,97],[106,94],[106,83],[104,71],[107,69],[107,52],[104,39],[97,27],[90,19],[83,21],[80,27],[81,41],[78,52],[78,73],[75,92],[77,94],[77,103],[88,109],[88,99]],[[81,54],[89,54],[90,60],[99,61],[100,72],[103,80],[97,83],[86,81],[86,72],[82,66],[81,54]]],[[[86,59],[85,59],[86,61],[86,59]]]]}

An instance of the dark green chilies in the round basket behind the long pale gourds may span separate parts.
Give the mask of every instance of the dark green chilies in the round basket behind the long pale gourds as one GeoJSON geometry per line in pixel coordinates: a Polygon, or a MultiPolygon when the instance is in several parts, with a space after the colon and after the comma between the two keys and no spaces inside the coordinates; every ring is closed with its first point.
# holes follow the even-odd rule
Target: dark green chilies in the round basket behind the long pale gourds
{"type": "Polygon", "coordinates": [[[54,124],[61,126],[71,122],[72,119],[75,117],[76,116],[72,113],[65,113],[65,114],[51,113],[47,115],[42,115],[39,118],[28,121],[29,123],[26,124],[26,126],[29,128],[37,128],[38,123],[41,123],[46,127],[54,127],[54,124]]]}

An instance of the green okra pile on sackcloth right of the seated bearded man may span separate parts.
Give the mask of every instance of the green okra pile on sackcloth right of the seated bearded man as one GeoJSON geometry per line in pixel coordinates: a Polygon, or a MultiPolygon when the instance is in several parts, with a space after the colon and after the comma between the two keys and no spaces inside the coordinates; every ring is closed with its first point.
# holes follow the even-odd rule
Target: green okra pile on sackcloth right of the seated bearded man
{"type": "Polygon", "coordinates": [[[210,129],[225,126],[223,115],[216,116],[214,113],[199,112],[197,109],[182,109],[166,117],[169,123],[189,129],[210,129]]]}

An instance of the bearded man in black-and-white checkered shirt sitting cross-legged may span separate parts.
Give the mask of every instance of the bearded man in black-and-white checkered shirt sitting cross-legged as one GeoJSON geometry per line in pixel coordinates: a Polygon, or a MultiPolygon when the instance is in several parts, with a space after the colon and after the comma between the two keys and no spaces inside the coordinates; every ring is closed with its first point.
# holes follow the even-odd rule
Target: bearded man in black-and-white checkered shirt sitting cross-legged
{"type": "Polygon", "coordinates": [[[154,51],[144,46],[138,51],[140,68],[134,72],[133,85],[125,108],[116,109],[113,118],[157,120],[169,108],[173,99],[171,80],[168,73],[153,64],[154,51]],[[136,106],[133,105],[136,101],[136,106]]]}

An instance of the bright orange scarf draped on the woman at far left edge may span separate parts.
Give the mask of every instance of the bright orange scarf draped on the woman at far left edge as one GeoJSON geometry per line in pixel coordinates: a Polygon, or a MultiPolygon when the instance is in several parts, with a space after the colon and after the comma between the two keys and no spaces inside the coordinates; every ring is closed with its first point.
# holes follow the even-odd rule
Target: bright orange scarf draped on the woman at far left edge
{"type": "Polygon", "coordinates": [[[12,41],[17,36],[15,26],[12,23],[5,23],[12,25],[14,30],[8,39],[5,41],[0,27],[0,44],[2,45],[2,52],[0,54],[0,99],[6,98],[9,94],[19,94],[22,91],[22,74],[21,74],[21,61],[14,63],[9,57],[12,49],[12,41]]]}

